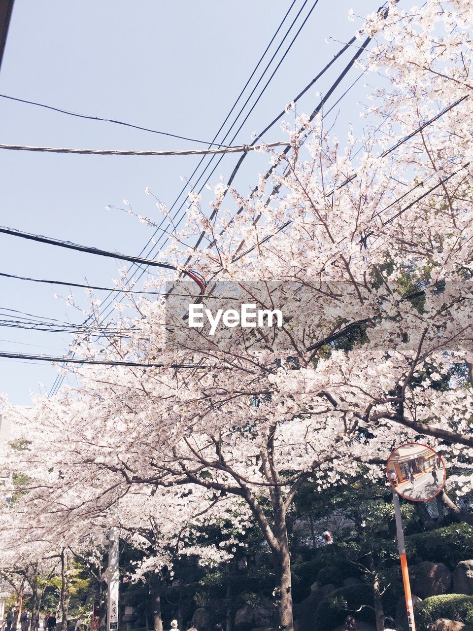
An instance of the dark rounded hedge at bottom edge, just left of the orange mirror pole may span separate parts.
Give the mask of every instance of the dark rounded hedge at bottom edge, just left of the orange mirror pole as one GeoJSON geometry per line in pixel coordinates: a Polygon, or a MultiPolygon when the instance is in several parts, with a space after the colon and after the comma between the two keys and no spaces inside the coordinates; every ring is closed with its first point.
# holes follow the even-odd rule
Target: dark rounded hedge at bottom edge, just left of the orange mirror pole
{"type": "Polygon", "coordinates": [[[359,584],[340,587],[325,596],[318,604],[314,616],[314,628],[317,631],[332,631],[344,623],[347,615],[356,616],[356,620],[375,623],[373,612],[373,591],[369,585],[359,584]],[[363,606],[361,611],[358,609],[363,606]],[[354,613],[356,611],[356,613],[354,613]]]}

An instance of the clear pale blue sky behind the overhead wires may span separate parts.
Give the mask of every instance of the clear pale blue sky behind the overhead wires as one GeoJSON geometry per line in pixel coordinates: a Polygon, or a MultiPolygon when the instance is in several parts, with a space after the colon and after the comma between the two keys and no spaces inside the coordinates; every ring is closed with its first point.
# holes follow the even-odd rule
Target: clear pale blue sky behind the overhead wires
{"type": "MultiPolygon", "coordinates": [[[[228,131],[303,7],[240,121],[255,103],[312,5],[313,0],[295,0],[219,138],[228,131]]],[[[0,94],[210,141],[290,6],[289,0],[16,0],[0,73],[0,94]]],[[[339,42],[351,38],[361,25],[359,20],[353,23],[347,19],[352,6],[358,15],[366,15],[378,8],[379,0],[318,1],[233,144],[250,142],[252,132],[266,127],[330,61],[341,46],[339,42]],[[326,43],[329,37],[337,41],[326,43]]],[[[344,57],[337,62],[327,78],[308,91],[298,105],[299,112],[312,112],[318,102],[317,91],[324,93],[347,61],[344,57]]],[[[349,73],[330,103],[359,72],[354,68],[349,73]]],[[[332,114],[340,110],[336,126],[339,138],[346,134],[350,122],[360,124],[359,103],[366,102],[370,91],[366,81],[372,84],[376,78],[358,81],[332,114]]],[[[6,98],[0,98],[0,129],[3,144],[122,150],[202,147],[6,98]]],[[[282,139],[279,124],[265,137],[267,142],[282,139]]],[[[216,184],[220,175],[228,179],[237,160],[238,156],[225,156],[210,183],[216,184]]],[[[208,158],[204,165],[207,162],[208,158]]],[[[129,199],[137,213],[160,221],[155,201],[145,194],[145,188],[152,189],[170,207],[183,187],[180,176],[190,178],[198,163],[197,156],[73,156],[0,150],[0,224],[137,255],[152,231],[130,215],[106,211],[105,206],[123,207],[123,199],[129,199]]],[[[234,185],[247,194],[266,164],[267,156],[248,155],[234,185]]],[[[198,174],[201,172],[202,168],[198,174]]],[[[182,196],[179,204],[184,199],[182,196]]],[[[86,279],[93,285],[110,286],[121,266],[115,259],[0,234],[0,271],[4,273],[78,283],[86,279]]],[[[54,298],[55,293],[66,297],[66,287],[0,278],[0,290],[0,320],[14,315],[6,309],[75,323],[84,320],[79,310],[54,298]]],[[[76,289],[74,295],[81,302],[82,290],[76,289]]],[[[62,356],[70,341],[70,336],[60,333],[0,326],[2,351],[62,356]]],[[[49,391],[56,374],[57,369],[49,363],[0,358],[0,392],[7,392],[14,403],[28,404],[30,392],[37,392],[38,384],[44,384],[43,392],[49,391]]]]}

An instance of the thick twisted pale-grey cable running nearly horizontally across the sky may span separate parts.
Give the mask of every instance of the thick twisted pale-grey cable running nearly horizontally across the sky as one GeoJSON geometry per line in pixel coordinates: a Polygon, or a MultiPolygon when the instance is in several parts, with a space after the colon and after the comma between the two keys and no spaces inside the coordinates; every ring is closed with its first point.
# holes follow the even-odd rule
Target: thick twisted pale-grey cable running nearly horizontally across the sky
{"type": "Polygon", "coordinates": [[[264,147],[281,147],[288,144],[286,141],[279,143],[264,143],[255,145],[242,144],[236,147],[226,147],[221,149],[194,149],[194,150],[166,150],[166,151],[127,151],[115,149],[71,149],[59,147],[31,147],[22,144],[0,144],[0,149],[8,149],[12,151],[40,151],[46,153],[77,153],[80,155],[95,156],[198,156],[213,155],[218,153],[248,153],[248,151],[257,151],[264,147]]]}

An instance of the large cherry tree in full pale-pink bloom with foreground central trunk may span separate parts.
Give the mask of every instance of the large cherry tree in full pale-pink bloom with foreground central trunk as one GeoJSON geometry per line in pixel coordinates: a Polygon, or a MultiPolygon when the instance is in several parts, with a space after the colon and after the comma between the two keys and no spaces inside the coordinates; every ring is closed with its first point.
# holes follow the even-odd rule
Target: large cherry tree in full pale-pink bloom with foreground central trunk
{"type": "MultiPolygon", "coordinates": [[[[131,522],[135,540],[160,533],[146,569],[177,540],[221,558],[193,548],[199,517],[231,515],[240,531],[254,521],[279,625],[292,631],[286,516],[306,480],[322,490],[360,463],[374,480],[394,447],[421,436],[473,457],[472,26],[465,0],[390,2],[359,33],[373,36],[359,63],[379,87],[358,141],[350,131],[341,144],[323,112],[289,107],[292,151],[271,153],[271,181],[247,198],[218,184],[210,216],[190,192],[163,257],[184,267],[192,256],[207,284],[182,304],[244,298],[280,307],[281,326],[190,329],[170,300],[188,291],[178,277],[155,302],[130,296],[113,321],[122,335],[104,348],[83,336],[73,350],[149,367],[84,367],[78,391],[38,398],[26,420],[11,411],[34,445],[22,463],[30,501],[131,522]]],[[[456,483],[469,492],[472,481],[456,483]]]]}

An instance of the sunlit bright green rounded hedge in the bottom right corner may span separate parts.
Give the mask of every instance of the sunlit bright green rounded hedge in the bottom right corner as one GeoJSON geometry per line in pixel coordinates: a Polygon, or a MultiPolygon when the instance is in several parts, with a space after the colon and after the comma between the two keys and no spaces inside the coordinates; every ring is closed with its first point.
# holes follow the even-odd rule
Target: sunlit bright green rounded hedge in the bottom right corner
{"type": "Polygon", "coordinates": [[[473,624],[473,596],[442,594],[426,598],[416,609],[416,626],[419,631],[429,631],[438,618],[473,624]]]}

